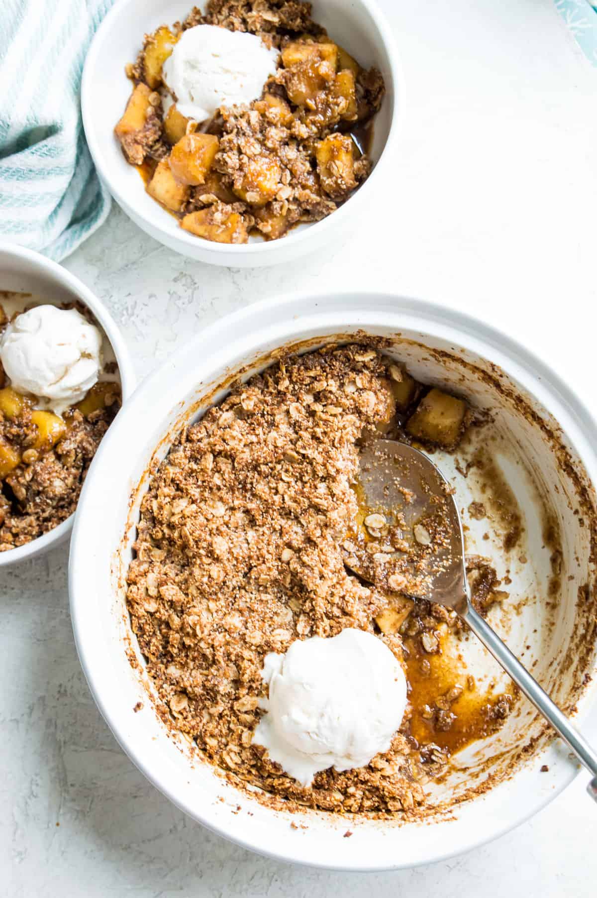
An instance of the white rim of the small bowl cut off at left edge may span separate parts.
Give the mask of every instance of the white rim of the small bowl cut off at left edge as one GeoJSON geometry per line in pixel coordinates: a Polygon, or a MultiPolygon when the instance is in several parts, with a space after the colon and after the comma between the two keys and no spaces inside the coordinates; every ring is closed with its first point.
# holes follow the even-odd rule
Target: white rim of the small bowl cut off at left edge
{"type": "MultiPolygon", "coordinates": [[[[43,269],[44,275],[47,274],[49,276],[48,280],[54,279],[62,286],[66,286],[77,295],[83,305],[87,306],[92,312],[93,317],[100,322],[110,346],[114,350],[114,355],[116,356],[116,361],[119,365],[122,398],[123,401],[127,400],[128,396],[136,387],[135,369],[119,327],[101,300],[94,295],[89,287],[85,286],[83,281],[78,277],[75,277],[70,271],[63,268],[62,265],[59,265],[54,260],[48,259],[47,256],[42,255],[40,252],[30,250],[27,247],[19,246],[11,242],[0,241],[0,253],[9,254],[16,260],[33,262],[36,265],[39,265],[40,268],[43,269]]],[[[58,524],[57,527],[54,527],[52,530],[48,530],[48,533],[42,533],[41,536],[36,537],[34,540],[31,540],[31,542],[26,542],[22,546],[17,546],[16,549],[0,552],[0,568],[7,568],[19,561],[31,559],[33,556],[40,555],[66,540],[66,537],[73,528],[75,514],[76,509],[65,521],[62,521],[61,524],[58,524]]]]}

